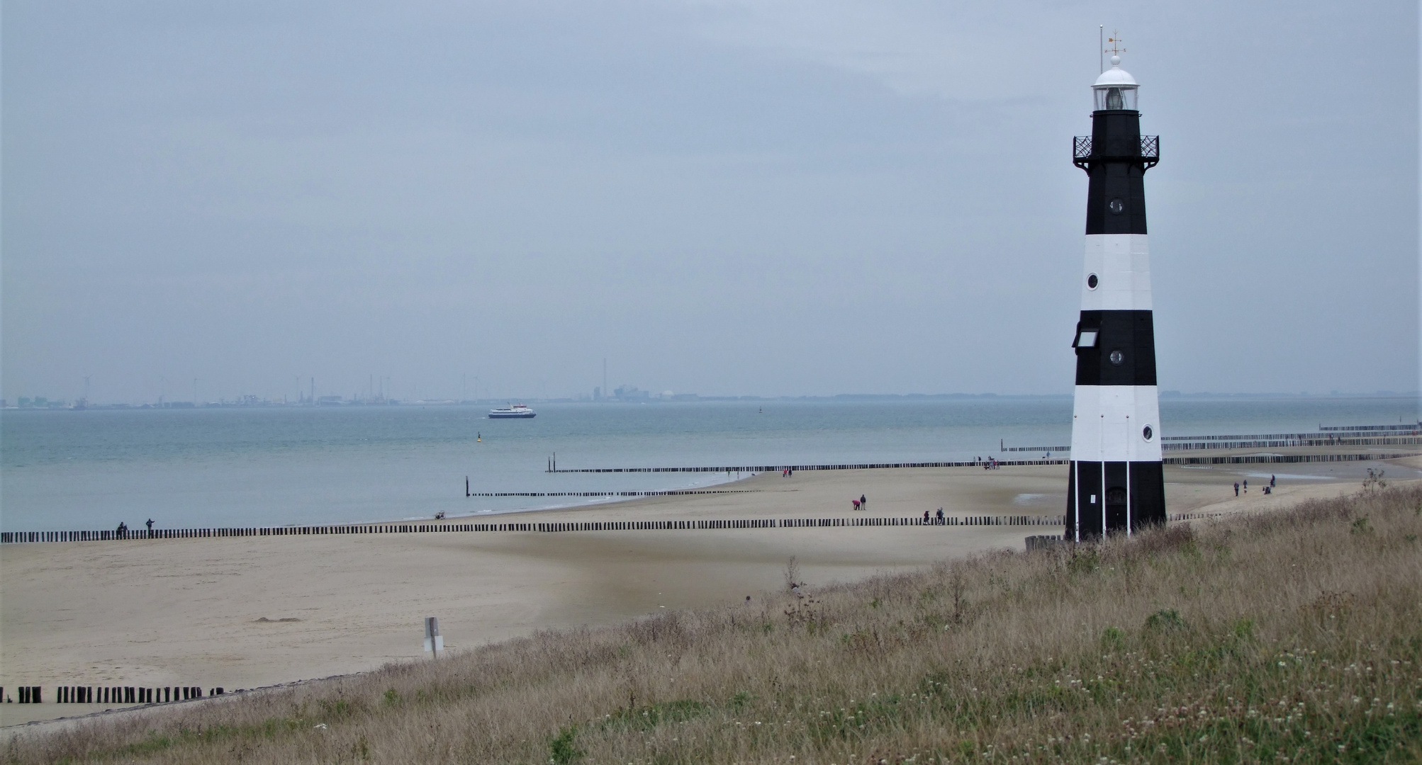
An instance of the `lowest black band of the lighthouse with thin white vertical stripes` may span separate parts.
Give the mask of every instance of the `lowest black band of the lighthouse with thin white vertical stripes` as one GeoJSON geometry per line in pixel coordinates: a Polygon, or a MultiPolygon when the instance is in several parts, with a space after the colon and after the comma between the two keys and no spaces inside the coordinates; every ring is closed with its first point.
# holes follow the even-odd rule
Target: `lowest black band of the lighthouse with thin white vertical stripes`
{"type": "Polygon", "coordinates": [[[1101,539],[1165,523],[1165,469],[1160,462],[1071,464],[1066,486],[1066,539],[1101,539]]]}

